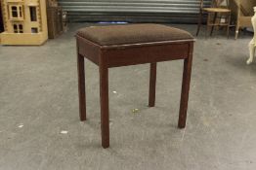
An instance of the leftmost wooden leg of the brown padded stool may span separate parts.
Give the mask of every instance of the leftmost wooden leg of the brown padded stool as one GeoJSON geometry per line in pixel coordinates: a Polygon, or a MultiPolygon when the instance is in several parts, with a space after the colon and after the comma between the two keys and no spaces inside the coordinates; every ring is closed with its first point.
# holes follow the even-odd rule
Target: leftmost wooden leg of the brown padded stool
{"type": "Polygon", "coordinates": [[[84,56],[77,54],[78,95],[80,120],[86,120],[85,81],[84,81],[84,56]]]}

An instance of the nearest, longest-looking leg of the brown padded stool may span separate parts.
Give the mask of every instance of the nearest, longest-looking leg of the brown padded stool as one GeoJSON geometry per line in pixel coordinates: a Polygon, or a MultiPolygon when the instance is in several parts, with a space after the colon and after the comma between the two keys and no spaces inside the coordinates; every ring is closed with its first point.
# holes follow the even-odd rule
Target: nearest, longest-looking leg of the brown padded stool
{"type": "Polygon", "coordinates": [[[102,146],[106,149],[109,147],[108,68],[102,61],[100,61],[100,95],[102,146]]]}

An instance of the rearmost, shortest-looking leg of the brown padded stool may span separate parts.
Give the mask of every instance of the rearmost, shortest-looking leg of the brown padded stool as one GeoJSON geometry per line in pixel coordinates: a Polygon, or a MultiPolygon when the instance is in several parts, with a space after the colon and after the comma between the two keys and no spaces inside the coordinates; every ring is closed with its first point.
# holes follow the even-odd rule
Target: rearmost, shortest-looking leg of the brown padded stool
{"type": "Polygon", "coordinates": [[[149,107],[155,104],[156,63],[150,63],[149,107]]]}

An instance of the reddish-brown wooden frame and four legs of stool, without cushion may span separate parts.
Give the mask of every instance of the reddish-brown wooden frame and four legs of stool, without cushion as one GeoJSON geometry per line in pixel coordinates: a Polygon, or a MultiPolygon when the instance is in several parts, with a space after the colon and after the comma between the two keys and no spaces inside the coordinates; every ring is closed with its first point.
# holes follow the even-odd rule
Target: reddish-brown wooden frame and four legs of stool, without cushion
{"type": "Polygon", "coordinates": [[[108,68],[111,67],[150,63],[149,107],[153,107],[155,104],[156,63],[184,59],[179,127],[185,127],[192,72],[193,39],[115,46],[100,46],[80,36],[76,36],[76,40],[81,120],[86,119],[83,57],[99,66],[103,148],[109,147],[108,68]]]}

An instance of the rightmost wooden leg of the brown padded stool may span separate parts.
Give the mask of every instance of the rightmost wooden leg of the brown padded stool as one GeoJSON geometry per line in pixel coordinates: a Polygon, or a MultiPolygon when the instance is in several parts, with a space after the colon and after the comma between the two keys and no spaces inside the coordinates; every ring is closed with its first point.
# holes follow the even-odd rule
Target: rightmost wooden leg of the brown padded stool
{"type": "Polygon", "coordinates": [[[192,74],[192,44],[190,45],[190,56],[184,60],[184,71],[183,71],[183,85],[182,85],[182,95],[180,103],[180,115],[178,127],[184,128],[186,126],[188,101],[189,101],[189,91],[191,84],[191,74],[192,74]]]}

